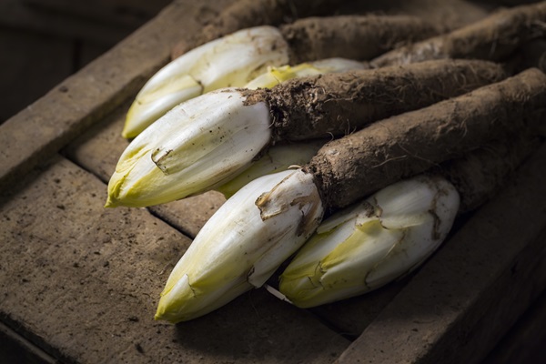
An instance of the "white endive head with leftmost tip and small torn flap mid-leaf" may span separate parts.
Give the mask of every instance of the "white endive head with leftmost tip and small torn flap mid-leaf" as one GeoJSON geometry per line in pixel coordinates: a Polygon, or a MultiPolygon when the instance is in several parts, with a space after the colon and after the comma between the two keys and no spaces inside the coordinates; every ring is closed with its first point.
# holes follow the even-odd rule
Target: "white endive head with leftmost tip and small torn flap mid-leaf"
{"type": "Polygon", "coordinates": [[[223,89],[176,106],[137,136],[108,183],[106,207],[158,205],[225,183],[270,142],[268,106],[223,89]]]}

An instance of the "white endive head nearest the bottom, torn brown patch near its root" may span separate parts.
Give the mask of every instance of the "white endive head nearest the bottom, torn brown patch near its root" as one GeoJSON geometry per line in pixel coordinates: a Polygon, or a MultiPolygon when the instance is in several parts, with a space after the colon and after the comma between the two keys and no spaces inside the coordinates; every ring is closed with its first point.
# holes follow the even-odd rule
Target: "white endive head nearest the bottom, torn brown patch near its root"
{"type": "MultiPolygon", "coordinates": [[[[296,176],[295,176],[296,175],[296,176]]],[[[319,225],[316,188],[294,188],[282,214],[260,217],[257,198],[299,171],[260,177],[241,188],[199,231],[167,279],[156,319],[196,319],[251,288],[261,287],[319,225]]],[[[299,185],[299,183],[298,183],[299,185]]],[[[308,184],[303,183],[304,186],[308,184]]]]}

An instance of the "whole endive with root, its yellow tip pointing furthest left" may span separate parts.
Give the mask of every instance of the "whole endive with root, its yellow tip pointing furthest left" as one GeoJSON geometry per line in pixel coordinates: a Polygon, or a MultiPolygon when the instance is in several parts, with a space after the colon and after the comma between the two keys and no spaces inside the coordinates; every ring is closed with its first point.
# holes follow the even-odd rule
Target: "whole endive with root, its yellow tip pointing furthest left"
{"type": "MultiPolygon", "coordinates": [[[[350,65],[332,59],[321,69],[350,65]]],[[[271,72],[279,80],[279,74],[317,71],[303,66],[271,72]]],[[[147,207],[195,195],[227,183],[272,145],[344,135],[502,76],[488,62],[431,61],[292,78],[272,89],[211,91],[175,106],[130,143],[110,178],[106,206],[147,207]]]]}

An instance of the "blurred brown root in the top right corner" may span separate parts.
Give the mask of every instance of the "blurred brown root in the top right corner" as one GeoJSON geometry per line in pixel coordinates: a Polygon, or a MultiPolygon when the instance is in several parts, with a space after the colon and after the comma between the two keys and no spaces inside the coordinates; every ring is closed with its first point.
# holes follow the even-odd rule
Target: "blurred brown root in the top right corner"
{"type": "Polygon", "coordinates": [[[501,61],[519,46],[546,35],[546,2],[496,12],[474,24],[389,51],[371,66],[403,65],[440,58],[501,61]]]}

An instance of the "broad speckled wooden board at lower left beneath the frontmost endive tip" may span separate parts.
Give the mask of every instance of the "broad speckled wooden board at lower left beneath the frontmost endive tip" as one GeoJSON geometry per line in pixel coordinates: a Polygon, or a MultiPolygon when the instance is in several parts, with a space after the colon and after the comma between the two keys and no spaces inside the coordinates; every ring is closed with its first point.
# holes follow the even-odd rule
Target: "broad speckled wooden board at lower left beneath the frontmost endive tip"
{"type": "Polygon", "coordinates": [[[190,240],[56,157],[0,197],[0,319],[67,362],[318,362],[349,341],[265,290],[193,321],[154,321],[190,240]]]}

